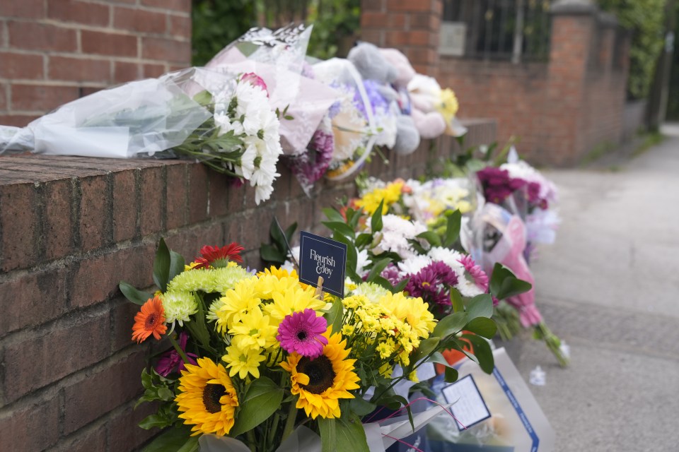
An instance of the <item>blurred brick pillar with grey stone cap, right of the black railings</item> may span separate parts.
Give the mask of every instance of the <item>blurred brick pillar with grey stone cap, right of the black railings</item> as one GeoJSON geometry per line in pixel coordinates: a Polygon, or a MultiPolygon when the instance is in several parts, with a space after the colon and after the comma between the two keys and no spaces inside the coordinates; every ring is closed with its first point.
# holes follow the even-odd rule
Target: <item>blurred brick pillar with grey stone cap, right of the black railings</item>
{"type": "Polygon", "coordinates": [[[584,153],[581,133],[587,66],[597,8],[588,0],[559,0],[552,5],[548,69],[546,151],[557,165],[571,165],[584,153]]]}

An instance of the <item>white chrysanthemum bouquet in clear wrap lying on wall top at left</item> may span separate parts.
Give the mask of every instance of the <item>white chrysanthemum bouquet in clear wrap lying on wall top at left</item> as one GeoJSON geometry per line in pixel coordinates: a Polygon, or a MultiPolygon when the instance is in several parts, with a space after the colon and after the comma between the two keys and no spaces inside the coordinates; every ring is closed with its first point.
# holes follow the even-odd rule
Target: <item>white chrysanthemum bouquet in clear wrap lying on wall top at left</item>
{"type": "Polygon", "coordinates": [[[197,159],[269,198],[282,154],[279,118],[255,73],[190,68],[82,97],[24,129],[0,126],[0,154],[197,159]]]}

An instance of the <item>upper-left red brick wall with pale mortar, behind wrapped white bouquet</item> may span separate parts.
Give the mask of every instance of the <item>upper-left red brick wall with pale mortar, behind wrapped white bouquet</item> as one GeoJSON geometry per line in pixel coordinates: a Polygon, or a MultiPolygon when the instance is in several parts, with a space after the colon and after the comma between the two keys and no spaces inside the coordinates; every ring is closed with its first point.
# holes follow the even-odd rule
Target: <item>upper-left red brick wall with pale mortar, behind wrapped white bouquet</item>
{"type": "Polygon", "coordinates": [[[190,0],[0,1],[0,124],[190,66],[190,0]]]}

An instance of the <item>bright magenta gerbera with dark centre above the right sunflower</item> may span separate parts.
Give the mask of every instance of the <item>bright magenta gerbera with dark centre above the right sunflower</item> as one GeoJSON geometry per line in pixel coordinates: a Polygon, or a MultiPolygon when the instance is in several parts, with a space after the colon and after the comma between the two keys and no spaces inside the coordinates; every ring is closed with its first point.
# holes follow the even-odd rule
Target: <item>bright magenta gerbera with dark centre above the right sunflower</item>
{"type": "Polygon", "coordinates": [[[276,339],[286,352],[314,359],[323,355],[323,347],[327,345],[327,338],[323,336],[326,329],[327,321],[323,317],[317,317],[313,309],[305,309],[285,316],[276,339]]]}

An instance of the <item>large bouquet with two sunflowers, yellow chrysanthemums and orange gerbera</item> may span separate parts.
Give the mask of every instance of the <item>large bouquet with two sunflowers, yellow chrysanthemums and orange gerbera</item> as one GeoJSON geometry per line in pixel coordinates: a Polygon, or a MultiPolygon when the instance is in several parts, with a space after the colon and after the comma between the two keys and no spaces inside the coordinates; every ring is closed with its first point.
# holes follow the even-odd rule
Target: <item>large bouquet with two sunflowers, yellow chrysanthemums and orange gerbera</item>
{"type": "MultiPolygon", "coordinates": [[[[465,353],[492,371],[481,337],[495,332],[490,299],[436,321],[422,298],[397,290],[356,285],[340,299],[303,285],[294,271],[255,274],[238,265],[241,250],[204,246],[185,265],[161,240],[157,292],[120,284],[141,304],[132,339],[153,336],[173,347],[141,375],[140,403],[158,403],[141,427],[171,427],[158,438],[163,444],[274,451],[311,435],[324,450],[368,451],[368,441],[383,447],[398,436],[361,418],[379,405],[407,405],[393,387],[426,362],[448,366],[440,350],[463,350],[471,340],[475,354],[465,353]]],[[[455,369],[446,378],[454,380],[455,369]]]]}

